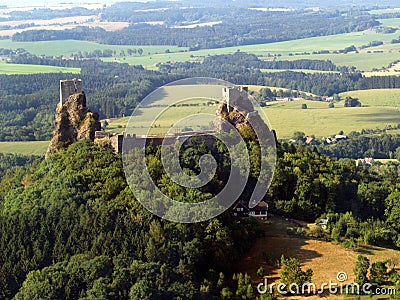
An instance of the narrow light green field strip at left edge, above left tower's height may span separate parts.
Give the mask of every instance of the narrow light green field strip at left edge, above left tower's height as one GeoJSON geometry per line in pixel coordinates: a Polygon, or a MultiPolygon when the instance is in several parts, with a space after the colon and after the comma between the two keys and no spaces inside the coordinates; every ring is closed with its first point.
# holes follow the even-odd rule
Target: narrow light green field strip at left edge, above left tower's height
{"type": "Polygon", "coordinates": [[[8,64],[5,61],[0,61],[0,74],[37,74],[60,72],[79,74],[81,69],[28,64],[8,64]]]}

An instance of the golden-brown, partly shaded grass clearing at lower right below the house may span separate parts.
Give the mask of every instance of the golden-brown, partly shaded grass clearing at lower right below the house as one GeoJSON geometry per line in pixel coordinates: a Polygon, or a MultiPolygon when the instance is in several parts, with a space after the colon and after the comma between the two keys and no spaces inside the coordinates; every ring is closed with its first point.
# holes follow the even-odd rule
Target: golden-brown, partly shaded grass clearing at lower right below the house
{"type": "MultiPolygon", "coordinates": [[[[262,279],[257,275],[257,269],[263,266],[267,271],[268,283],[278,283],[281,269],[276,265],[267,264],[262,253],[273,254],[274,261],[279,260],[283,254],[285,257],[298,258],[302,263],[303,270],[311,268],[314,271],[312,282],[319,288],[324,282],[338,283],[336,276],[339,272],[345,272],[348,275],[348,280],[345,283],[352,282],[354,280],[353,268],[359,254],[367,256],[371,263],[400,258],[400,252],[396,250],[375,246],[360,246],[356,250],[347,250],[338,244],[311,238],[297,238],[286,233],[288,227],[297,226],[290,220],[285,221],[277,217],[270,218],[268,222],[263,224],[266,236],[257,239],[251,251],[241,260],[238,271],[248,273],[256,283],[259,283],[262,279]]],[[[344,295],[323,294],[322,296],[329,299],[353,299],[344,295]]],[[[300,298],[296,297],[295,299],[300,298]]],[[[304,299],[321,299],[321,295],[311,295],[304,299]]],[[[357,297],[354,297],[354,299],[357,299],[357,297]]],[[[379,299],[379,297],[370,298],[368,296],[365,299],[379,299]]]]}

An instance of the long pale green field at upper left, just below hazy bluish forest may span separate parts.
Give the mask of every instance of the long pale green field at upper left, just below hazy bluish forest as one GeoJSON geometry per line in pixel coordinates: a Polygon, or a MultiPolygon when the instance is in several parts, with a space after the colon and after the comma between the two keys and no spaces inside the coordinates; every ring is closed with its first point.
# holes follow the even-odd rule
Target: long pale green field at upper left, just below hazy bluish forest
{"type": "MultiPolygon", "coordinates": [[[[180,48],[177,46],[119,46],[119,45],[104,45],[95,42],[75,41],[75,40],[60,40],[60,41],[44,41],[44,42],[13,42],[11,40],[0,40],[0,48],[18,49],[23,48],[36,55],[71,55],[78,51],[94,51],[94,50],[115,50],[117,55],[124,50],[128,49],[143,49],[143,55],[148,53],[165,53],[169,49],[171,52],[184,51],[187,48],[180,48]]],[[[139,57],[139,56],[138,56],[139,57]]]]}

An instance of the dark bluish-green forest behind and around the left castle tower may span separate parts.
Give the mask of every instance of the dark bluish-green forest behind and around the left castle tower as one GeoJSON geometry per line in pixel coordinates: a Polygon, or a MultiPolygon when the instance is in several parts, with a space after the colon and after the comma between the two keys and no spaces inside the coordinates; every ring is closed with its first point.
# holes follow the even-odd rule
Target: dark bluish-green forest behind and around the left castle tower
{"type": "Polygon", "coordinates": [[[84,61],[80,74],[0,75],[0,140],[48,140],[59,99],[59,81],[82,78],[89,107],[102,118],[130,114],[156,87],[181,78],[128,64],[84,61]]]}

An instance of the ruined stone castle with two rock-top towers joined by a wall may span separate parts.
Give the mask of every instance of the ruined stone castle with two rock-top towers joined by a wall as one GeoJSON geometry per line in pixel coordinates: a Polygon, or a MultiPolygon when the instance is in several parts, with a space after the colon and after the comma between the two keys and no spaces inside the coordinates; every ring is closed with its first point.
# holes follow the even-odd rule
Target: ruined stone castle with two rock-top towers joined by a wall
{"type": "MultiPolygon", "coordinates": [[[[105,132],[100,130],[100,123],[98,121],[98,114],[91,113],[86,107],[86,96],[82,91],[81,79],[60,80],[60,104],[56,113],[56,129],[54,132],[54,141],[51,143],[50,148],[57,149],[60,147],[60,141],[64,144],[69,144],[74,140],[80,138],[90,138],[96,144],[111,145],[115,152],[122,152],[122,144],[127,142],[130,147],[137,145],[161,145],[163,142],[167,144],[174,144],[177,140],[184,140],[188,136],[198,136],[202,139],[212,141],[207,136],[212,136],[218,131],[223,131],[223,120],[231,123],[237,129],[243,126],[250,126],[249,118],[258,117],[257,111],[249,99],[247,87],[233,86],[222,88],[222,103],[216,112],[216,121],[214,124],[214,131],[207,132],[185,132],[185,133],[169,133],[164,135],[136,135],[136,134],[116,134],[112,132],[105,132]],[[65,112],[68,120],[63,120],[61,112],[65,112]],[[87,119],[89,118],[89,119],[87,119]],[[88,122],[83,122],[87,120],[88,122]],[[78,122],[80,120],[82,122],[78,122]],[[76,123],[76,124],[75,124],[76,123]],[[81,124],[85,124],[84,128],[80,128],[81,124]],[[93,125],[93,124],[94,125],[93,125]],[[64,128],[68,124],[68,128],[64,128]],[[89,126],[90,124],[90,126],[89,126]],[[92,126],[93,125],[93,126],[92,126]],[[60,127],[61,126],[61,127],[60,127]],[[87,128],[87,127],[90,128],[87,128]],[[72,134],[75,133],[75,134],[72,134]],[[79,134],[77,134],[79,133],[79,134]],[[65,141],[68,142],[65,142],[65,141]]],[[[64,117],[65,119],[65,117],[64,117]]]]}

